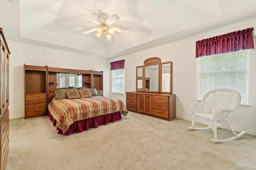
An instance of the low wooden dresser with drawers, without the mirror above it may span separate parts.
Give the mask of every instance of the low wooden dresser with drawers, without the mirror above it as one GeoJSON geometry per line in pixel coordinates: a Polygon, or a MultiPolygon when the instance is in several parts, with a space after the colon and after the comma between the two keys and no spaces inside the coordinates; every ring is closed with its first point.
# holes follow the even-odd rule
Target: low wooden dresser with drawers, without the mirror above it
{"type": "Polygon", "coordinates": [[[176,95],[147,92],[126,92],[129,111],[171,121],[176,118],[176,95]]]}

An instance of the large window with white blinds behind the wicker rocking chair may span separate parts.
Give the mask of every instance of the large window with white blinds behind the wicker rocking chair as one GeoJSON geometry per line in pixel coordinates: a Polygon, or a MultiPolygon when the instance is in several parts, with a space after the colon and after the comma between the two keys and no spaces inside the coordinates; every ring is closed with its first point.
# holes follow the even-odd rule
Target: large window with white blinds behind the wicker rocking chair
{"type": "Polygon", "coordinates": [[[199,57],[198,62],[199,100],[210,90],[230,88],[241,94],[241,104],[248,104],[248,50],[199,57]]]}

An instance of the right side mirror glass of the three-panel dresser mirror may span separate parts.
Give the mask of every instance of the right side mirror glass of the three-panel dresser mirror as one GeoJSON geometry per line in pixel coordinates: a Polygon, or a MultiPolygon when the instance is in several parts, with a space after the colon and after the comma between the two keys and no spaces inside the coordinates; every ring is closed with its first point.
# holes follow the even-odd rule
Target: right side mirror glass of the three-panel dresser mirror
{"type": "Polygon", "coordinates": [[[162,64],[162,92],[170,92],[171,64],[162,64]]]}

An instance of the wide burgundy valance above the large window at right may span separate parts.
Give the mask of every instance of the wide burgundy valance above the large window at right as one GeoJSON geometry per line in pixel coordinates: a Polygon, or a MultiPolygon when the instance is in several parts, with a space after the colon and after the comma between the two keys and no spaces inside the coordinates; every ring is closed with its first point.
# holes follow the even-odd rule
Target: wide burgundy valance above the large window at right
{"type": "Polygon", "coordinates": [[[205,55],[254,49],[252,31],[253,28],[247,28],[242,31],[234,31],[232,33],[196,41],[196,58],[205,55]]]}

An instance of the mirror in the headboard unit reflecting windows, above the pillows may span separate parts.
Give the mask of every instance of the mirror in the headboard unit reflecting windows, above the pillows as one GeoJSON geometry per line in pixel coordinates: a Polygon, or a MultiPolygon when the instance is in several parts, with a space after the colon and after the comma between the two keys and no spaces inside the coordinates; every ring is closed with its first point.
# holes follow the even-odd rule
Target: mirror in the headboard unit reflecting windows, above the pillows
{"type": "Polygon", "coordinates": [[[81,87],[82,74],[57,73],[57,88],[81,87]]]}

